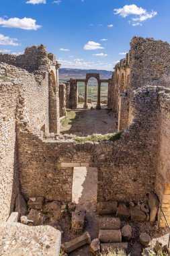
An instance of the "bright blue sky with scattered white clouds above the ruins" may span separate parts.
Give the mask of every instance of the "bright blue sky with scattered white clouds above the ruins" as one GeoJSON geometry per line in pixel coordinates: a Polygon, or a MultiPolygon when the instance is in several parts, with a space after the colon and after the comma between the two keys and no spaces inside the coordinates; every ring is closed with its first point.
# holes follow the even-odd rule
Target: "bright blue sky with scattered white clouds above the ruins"
{"type": "Polygon", "coordinates": [[[0,50],[45,44],[62,67],[112,70],[133,36],[170,43],[169,0],[1,0],[0,50]]]}

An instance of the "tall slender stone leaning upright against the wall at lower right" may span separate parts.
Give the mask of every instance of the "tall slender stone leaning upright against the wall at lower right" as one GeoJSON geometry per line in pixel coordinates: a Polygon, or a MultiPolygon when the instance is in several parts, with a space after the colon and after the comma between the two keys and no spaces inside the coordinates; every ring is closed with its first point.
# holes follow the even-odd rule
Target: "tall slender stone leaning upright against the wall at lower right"
{"type": "Polygon", "coordinates": [[[148,195],[148,205],[150,208],[150,222],[155,222],[157,212],[158,212],[158,207],[159,207],[159,200],[157,198],[157,195],[154,193],[149,193],[148,195]]]}

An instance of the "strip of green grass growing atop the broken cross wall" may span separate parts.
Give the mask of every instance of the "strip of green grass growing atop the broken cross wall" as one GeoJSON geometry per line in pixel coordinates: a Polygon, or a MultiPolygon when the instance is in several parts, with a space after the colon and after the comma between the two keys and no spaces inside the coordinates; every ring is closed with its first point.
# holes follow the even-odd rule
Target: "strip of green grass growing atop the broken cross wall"
{"type": "Polygon", "coordinates": [[[116,141],[120,139],[122,132],[119,131],[118,133],[106,134],[106,135],[97,135],[93,134],[88,137],[75,137],[74,140],[83,143],[86,141],[116,141]]]}

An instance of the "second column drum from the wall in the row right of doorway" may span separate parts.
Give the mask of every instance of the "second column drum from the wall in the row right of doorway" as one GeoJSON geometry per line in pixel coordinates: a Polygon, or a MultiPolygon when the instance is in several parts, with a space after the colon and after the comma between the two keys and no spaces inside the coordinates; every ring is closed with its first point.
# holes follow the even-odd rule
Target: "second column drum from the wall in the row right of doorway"
{"type": "Polygon", "coordinates": [[[120,218],[102,218],[99,220],[99,229],[120,229],[120,218]]]}

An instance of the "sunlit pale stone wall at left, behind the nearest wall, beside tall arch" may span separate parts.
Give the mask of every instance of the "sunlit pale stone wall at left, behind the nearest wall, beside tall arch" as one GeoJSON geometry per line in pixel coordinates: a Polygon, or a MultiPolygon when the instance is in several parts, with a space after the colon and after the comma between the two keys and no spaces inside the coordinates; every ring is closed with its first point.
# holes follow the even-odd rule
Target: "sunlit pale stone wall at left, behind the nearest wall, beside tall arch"
{"type": "Polygon", "coordinates": [[[43,125],[48,132],[48,72],[28,73],[5,63],[0,63],[3,79],[19,81],[24,89],[25,110],[23,119],[30,128],[41,129],[43,125]]]}

